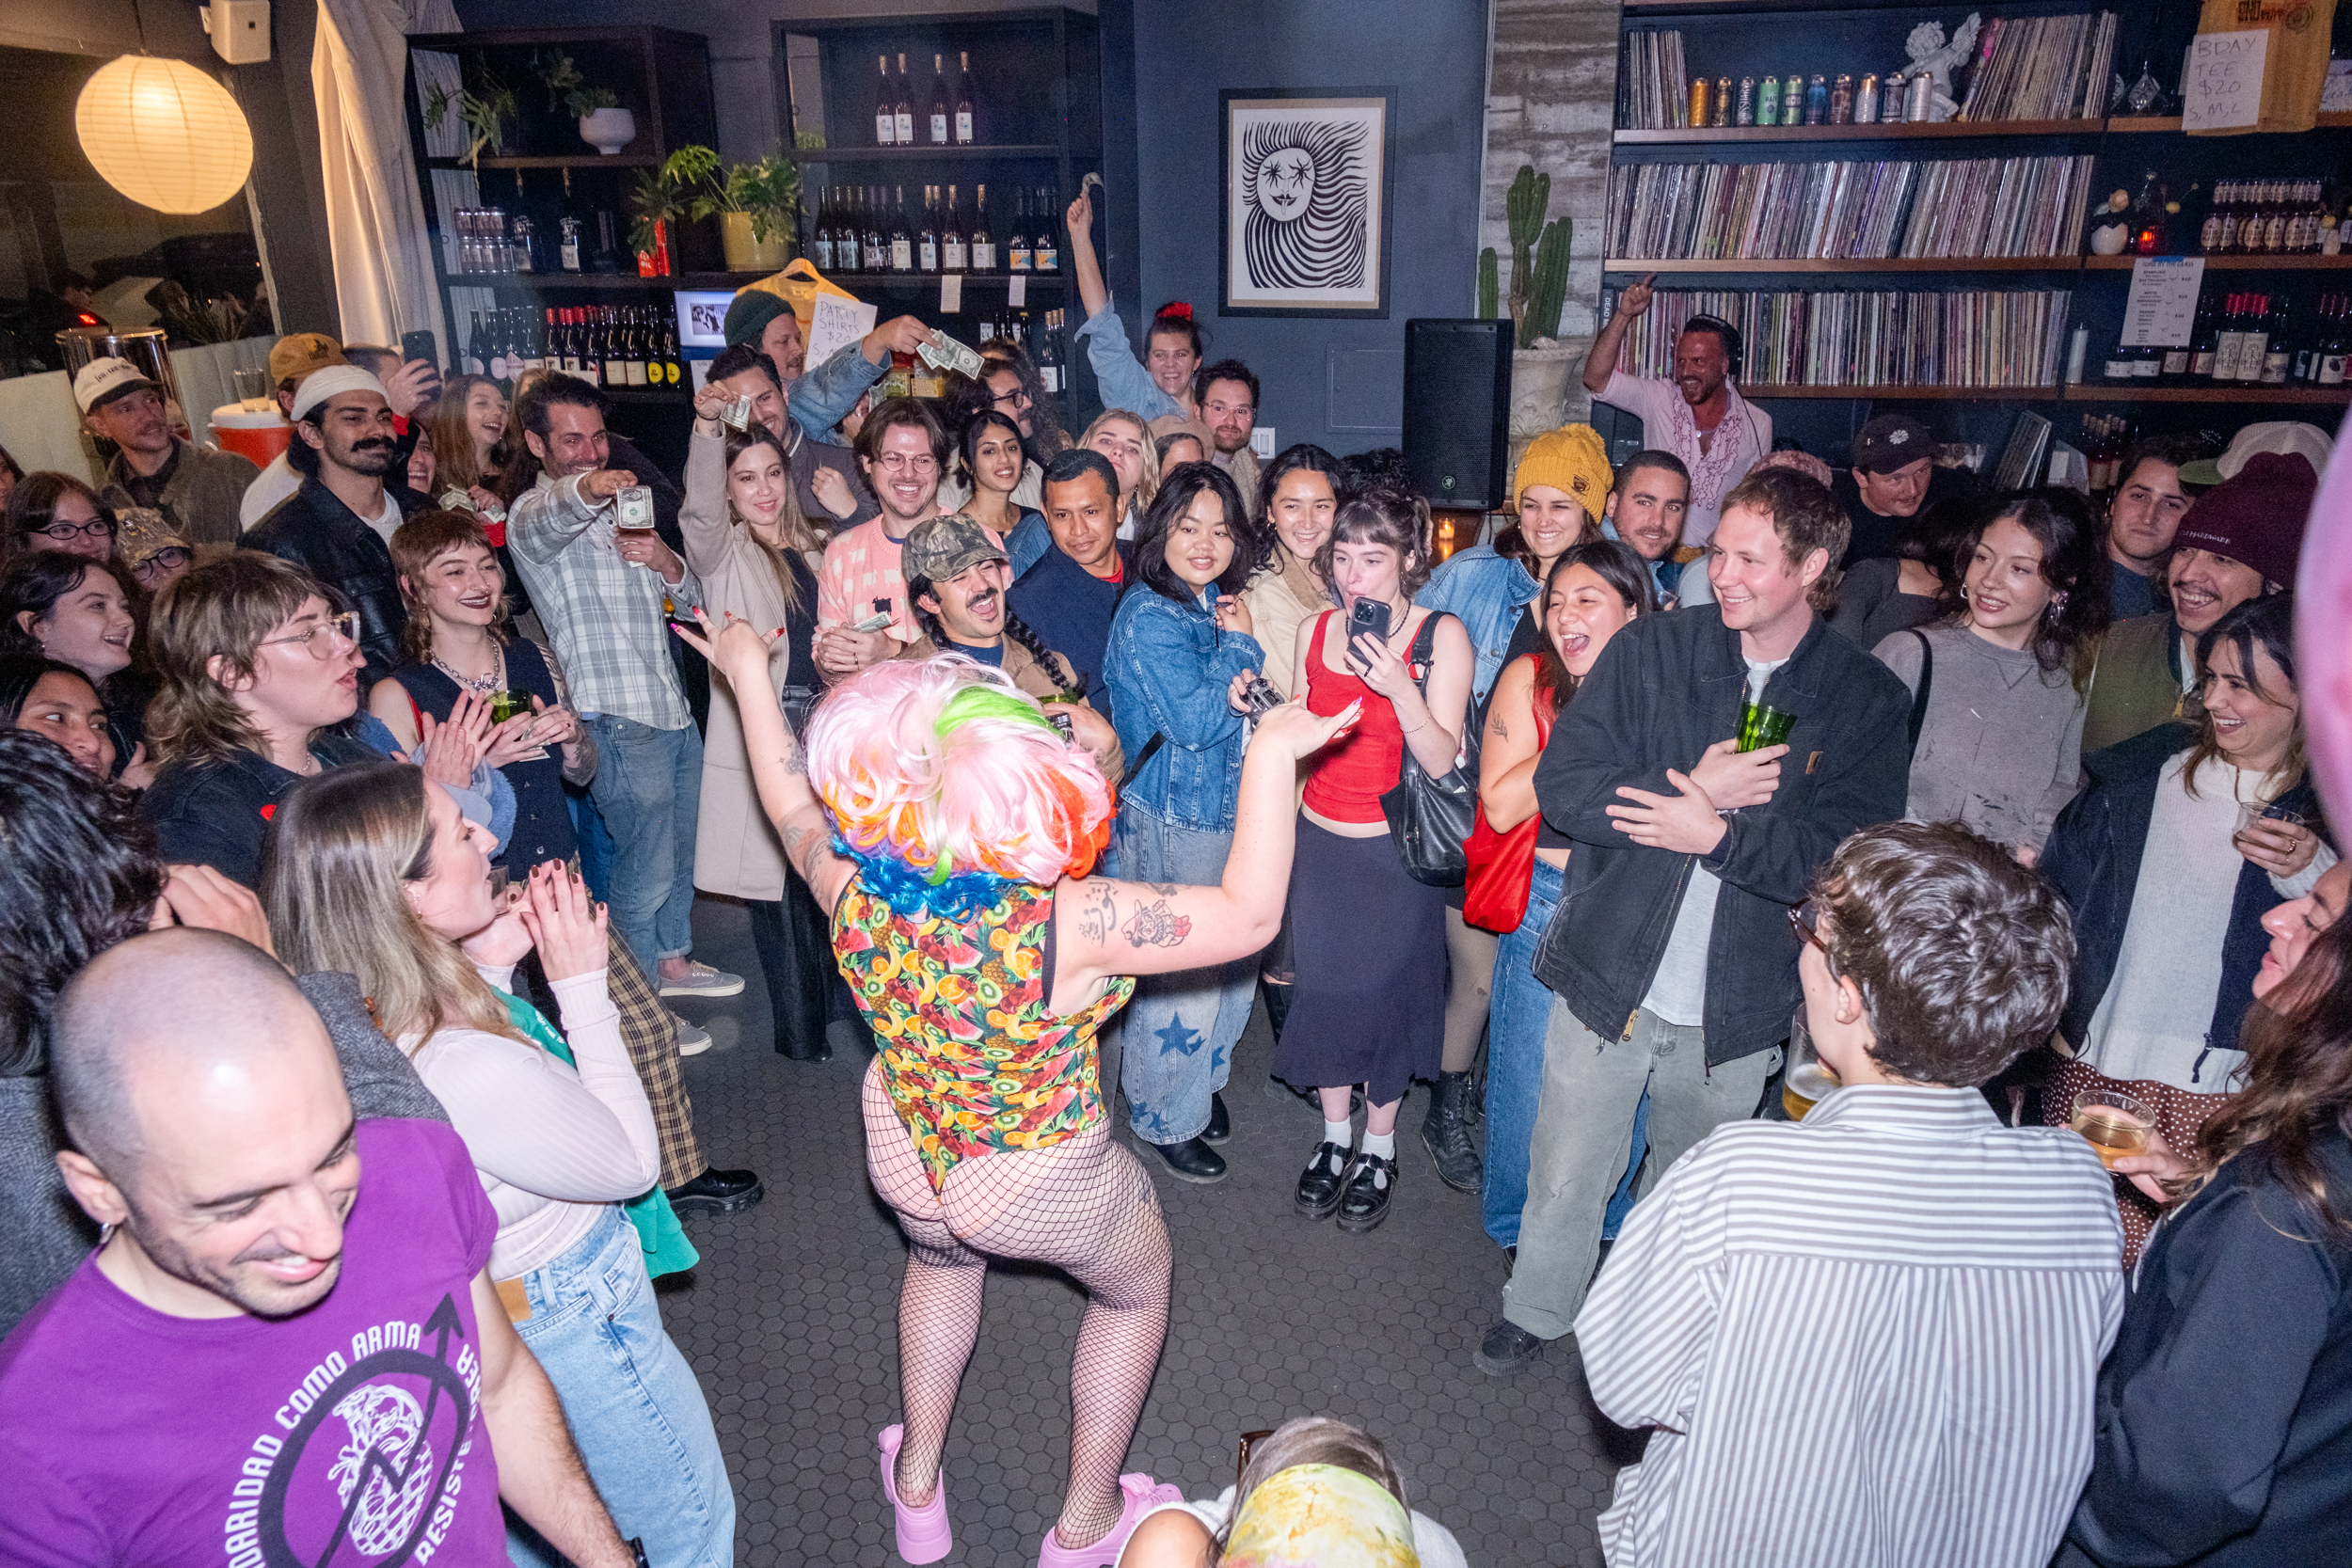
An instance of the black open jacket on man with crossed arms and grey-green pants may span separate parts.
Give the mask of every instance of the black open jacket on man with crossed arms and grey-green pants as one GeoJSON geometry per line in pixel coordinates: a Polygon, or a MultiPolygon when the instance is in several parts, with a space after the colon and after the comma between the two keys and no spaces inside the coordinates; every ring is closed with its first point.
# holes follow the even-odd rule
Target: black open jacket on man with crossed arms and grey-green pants
{"type": "MultiPolygon", "coordinates": [[[[1698,856],[1644,849],[1606,813],[1618,785],[1672,795],[1708,745],[1738,731],[1748,663],[1712,604],[1644,616],[1602,649],[1559,710],[1536,764],[1543,820],[1576,839],[1559,912],[1536,947],[1536,978],[1604,1039],[1625,1032],[1658,973],[1698,856]]],[[[1903,816],[1910,693],[1820,616],[1764,696],[1792,708],[1780,788],[1724,816],[1708,856],[1722,879],[1708,940],[1708,1065],[1788,1039],[1797,1011],[1797,936],[1788,910],[1858,827],[1903,816]]]]}

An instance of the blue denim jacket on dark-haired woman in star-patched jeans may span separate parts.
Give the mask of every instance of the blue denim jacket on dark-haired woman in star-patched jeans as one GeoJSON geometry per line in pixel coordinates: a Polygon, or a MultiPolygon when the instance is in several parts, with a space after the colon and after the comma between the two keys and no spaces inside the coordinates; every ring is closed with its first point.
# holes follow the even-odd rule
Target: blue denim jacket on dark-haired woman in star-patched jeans
{"type": "Polygon", "coordinates": [[[1242,795],[1242,715],[1225,689],[1242,670],[1263,670],[1265,651],[1247,632],[1221,632],[1211,604],[1214,585],[1209,604],[1178,604],[1136,583],[1110,623],[1103,679],[1129,757],[1141,757],[1155,731],[1167,736],[1120,799],[1178,827],[1230,832],[1242,795]]]}

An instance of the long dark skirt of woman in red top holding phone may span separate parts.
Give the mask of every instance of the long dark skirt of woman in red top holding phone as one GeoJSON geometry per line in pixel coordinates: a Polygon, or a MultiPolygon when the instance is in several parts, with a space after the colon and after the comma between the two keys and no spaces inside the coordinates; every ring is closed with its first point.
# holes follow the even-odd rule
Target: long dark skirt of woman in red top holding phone
{"type": "Polygon", "coordinates": [[[1275,1077],[1364,1084],[1371,1105],[1435,1079],[1446,1032],[1446,893],[1414,882],[1383,832],[1348,839],[1298,818],[1291,860],[1298,980],[1275,1077]]]}

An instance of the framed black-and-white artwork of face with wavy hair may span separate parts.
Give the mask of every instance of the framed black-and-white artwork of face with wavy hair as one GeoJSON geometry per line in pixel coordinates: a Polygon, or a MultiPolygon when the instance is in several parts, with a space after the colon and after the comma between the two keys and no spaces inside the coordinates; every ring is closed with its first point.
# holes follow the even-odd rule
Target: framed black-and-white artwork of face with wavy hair
{"type": "Polygon", "coordinates": [[[1388,317],[1395,87],[1216,94],[1218,315],[1388,317]]]}

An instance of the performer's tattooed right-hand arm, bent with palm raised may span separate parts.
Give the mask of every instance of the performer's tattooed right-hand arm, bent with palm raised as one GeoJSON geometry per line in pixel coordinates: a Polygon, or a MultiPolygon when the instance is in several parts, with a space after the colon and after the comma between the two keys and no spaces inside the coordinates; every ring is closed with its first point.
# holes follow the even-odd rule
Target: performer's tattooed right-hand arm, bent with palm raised
{"type": "Polygon", "coordinates": [[[1348,703],[1319,717],[1305,703],[1284,703],[1258,719],[1218,886],[1065,879],[1054,903],[1054,1011],[1084,1006],[1112,976],[1204,969],[1275,940],[1298,832],[1298,759],[1355,724],[1359,710],[1348,703]]]}

